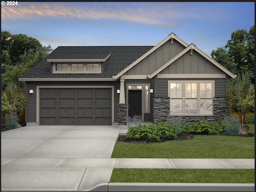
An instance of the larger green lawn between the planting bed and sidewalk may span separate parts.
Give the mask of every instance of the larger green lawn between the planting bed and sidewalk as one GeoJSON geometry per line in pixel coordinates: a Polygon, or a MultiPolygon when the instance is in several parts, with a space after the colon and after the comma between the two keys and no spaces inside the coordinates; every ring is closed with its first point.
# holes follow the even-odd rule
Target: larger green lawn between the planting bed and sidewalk
{"type": "Polygon", "coordinates": [[[195,135],[163,143],[117,141],[111,158],[254,159],[254,137],[195,135]]]}

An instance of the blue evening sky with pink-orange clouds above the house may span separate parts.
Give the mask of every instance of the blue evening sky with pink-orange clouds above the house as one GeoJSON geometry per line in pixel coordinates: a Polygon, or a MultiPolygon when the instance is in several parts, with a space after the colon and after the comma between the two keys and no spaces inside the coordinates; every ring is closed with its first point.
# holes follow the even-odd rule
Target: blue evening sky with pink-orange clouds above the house
{"type": "Polygon", "coordinates": [[[43,46],[154,46],[170,33],[210,55],[250,30],[254,2],[1,2],[1,30],[43,46]],[[5,4],[4,4],[5,3],[5,4]],[[3,5],[4,4],[4,5],[3,5]]]}

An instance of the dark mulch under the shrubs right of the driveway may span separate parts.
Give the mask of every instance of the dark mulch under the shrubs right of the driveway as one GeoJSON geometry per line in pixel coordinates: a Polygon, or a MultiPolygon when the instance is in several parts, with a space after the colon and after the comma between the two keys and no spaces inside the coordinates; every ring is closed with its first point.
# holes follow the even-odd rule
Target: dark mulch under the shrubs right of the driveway
{"type": "MultiPolygon", "coordinates": [[[[177,140],[188,140],[194,139],[193,133],[186,133],[186,134],[178,134],[177,138],[160,138],[160,141],[147,141],[145,139],[133,139],[133,138],[126,138],[126,135],[119,135],[117,141],[127,142],[127,143],[161,143],[165,141],[177,141],[177,140]]],[[[204,135],[204,134],[201,134],[204,135]]],[[[220,135],[228,135],[232,137],[254,137],[254,133],[248,133],[248,135],[229,135],[225,132],[220,132],[220,135]]]]}

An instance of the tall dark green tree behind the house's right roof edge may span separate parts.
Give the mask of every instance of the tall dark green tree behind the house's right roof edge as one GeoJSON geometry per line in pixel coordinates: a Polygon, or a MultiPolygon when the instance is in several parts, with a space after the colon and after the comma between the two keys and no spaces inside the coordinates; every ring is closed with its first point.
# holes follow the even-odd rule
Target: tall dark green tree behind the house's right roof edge
{"type": "Polygon", "coordinates": [[[231,39],[224,47],[218,47],[211,53],[212,58],[229,71],[239,74],[246,73],[254,84],[254,28],[250,31],[239,29],[231,33],[231,39]]]}

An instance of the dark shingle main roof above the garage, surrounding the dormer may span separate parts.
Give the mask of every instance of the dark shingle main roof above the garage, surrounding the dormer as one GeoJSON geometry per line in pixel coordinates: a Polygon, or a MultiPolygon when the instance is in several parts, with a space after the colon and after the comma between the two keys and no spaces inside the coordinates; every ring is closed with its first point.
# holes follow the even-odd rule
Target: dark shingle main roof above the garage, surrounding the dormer
{"type": "Polygon", "coordinates": [[[154,46],[57,47],[21,78],[112,78],[154,46]],[[47,59],[105,59],[103,74],[51,74],[47,59]]]}

